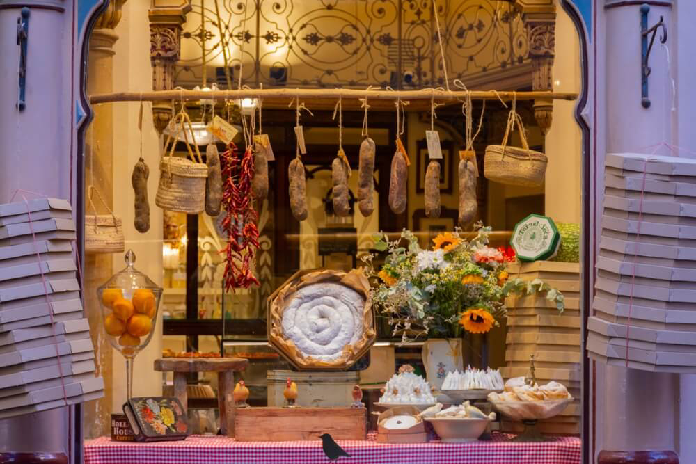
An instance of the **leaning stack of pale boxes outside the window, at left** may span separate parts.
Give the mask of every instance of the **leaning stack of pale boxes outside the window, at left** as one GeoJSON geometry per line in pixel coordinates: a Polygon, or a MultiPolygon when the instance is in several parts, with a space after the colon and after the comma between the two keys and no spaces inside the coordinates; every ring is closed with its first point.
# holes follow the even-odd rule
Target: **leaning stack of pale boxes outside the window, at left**
{"type": "Polygon", "coordinates": [[[0,205],[0,418],[102,397],[67,200],[0,205]]]}

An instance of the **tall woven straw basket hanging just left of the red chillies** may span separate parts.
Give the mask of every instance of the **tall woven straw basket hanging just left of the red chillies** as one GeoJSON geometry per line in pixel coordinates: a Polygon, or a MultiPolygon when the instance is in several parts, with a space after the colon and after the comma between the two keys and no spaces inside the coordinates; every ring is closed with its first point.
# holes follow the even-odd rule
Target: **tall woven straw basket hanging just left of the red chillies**
{"type": "MultiPolygon", "coordinates": [[[[170,134],[164,144],[165,153],[167,153],[170,141],[172,143],[171,149],[168,151],[168,156],[165,154],[159,163],[159,186],[157,187],[155,204],[168,211],[199,214],[205,210],[205,179],[208,177],[208,167],[200,157],[196,141],[193,140],[193,147],[196,149],[195,155],[191,150],[191,145],[189,145],[187,131],[184,129],[184,122],[188,122],[189,129],[191,127],[189,115],[183,112],[179,113],[175,122],[179,123],[177,133],[174,136],[170,134]],[[186,147],[191,159],[173,156],[176,138],[180,131],[184,133],[186,147]]],[[[192,129],[189,134],[193,137],[192,129]]]]}

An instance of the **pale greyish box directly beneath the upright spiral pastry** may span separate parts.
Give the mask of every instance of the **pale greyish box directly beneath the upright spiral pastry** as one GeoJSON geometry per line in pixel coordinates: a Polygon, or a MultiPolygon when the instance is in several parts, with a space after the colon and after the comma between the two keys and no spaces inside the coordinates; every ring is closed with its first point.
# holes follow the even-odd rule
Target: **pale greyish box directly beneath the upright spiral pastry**
{"type": "Polygon", "coordinates": [[[285,381],[297,384],[296,406],[315,408],[347,407],[353,402],[351,391],[359,383],[357,371],[347,372],[294,372],[269,370],[268,406],[285,406],[285,381]]]}

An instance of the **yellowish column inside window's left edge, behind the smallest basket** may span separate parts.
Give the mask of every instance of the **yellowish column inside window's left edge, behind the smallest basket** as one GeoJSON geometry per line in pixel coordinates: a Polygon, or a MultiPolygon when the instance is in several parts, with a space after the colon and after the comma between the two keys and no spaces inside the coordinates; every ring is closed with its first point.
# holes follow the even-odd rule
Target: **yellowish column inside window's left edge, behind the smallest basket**
{"type": "MultiPolygon", "coordinates": [[[[121,8],[126,0],[111,0],[104,13],[97,19],[89,41],[87,63],[87,95],[113,91],[113,45],[118,35],[113,31],[121,19],[121,8]]],[[[104,202],[113,210],[113,105],[100,104],[93,107],[94,118],[86,133],[85,143],[85,186],[93,184],[104,202]]],[[[85,192],[85,195],[88,191],[85,192]]],[[[106,214],[106,208],[94,202],[97,214],[106,214]]],[[[88,206],[88,214],[92,211],[88,206]]],[[[88,253],[85,255],[84,298],[85,312],[90,323],[90,332],[95,347],[95,360],[99,374],[104,378],[104,397],[90,401],[84,407],[84,435],[94,438],[111,433],[111,397],[113,367],[111,344],[102,328],[102,314],[97,301],[97,287],[112,274],[113,255],[110,253],[88,253]]],[[[113,411],[120,413],[120,411],[113,411]]]]}

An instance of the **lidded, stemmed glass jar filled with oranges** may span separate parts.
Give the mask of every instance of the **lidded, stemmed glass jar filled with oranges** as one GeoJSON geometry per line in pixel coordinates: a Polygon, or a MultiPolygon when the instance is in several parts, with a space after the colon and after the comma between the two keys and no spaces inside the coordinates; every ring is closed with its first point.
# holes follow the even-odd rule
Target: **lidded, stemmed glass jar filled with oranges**
{"type": "Polygon", "coordinates": [[[135,254],[125,254],[126,267],[97,289],[104,331],[111,345],[126,359],[127,394],[132,397],[133,359],[148,346],[155,333],[162,289],[133,264],[135,254]]]}

